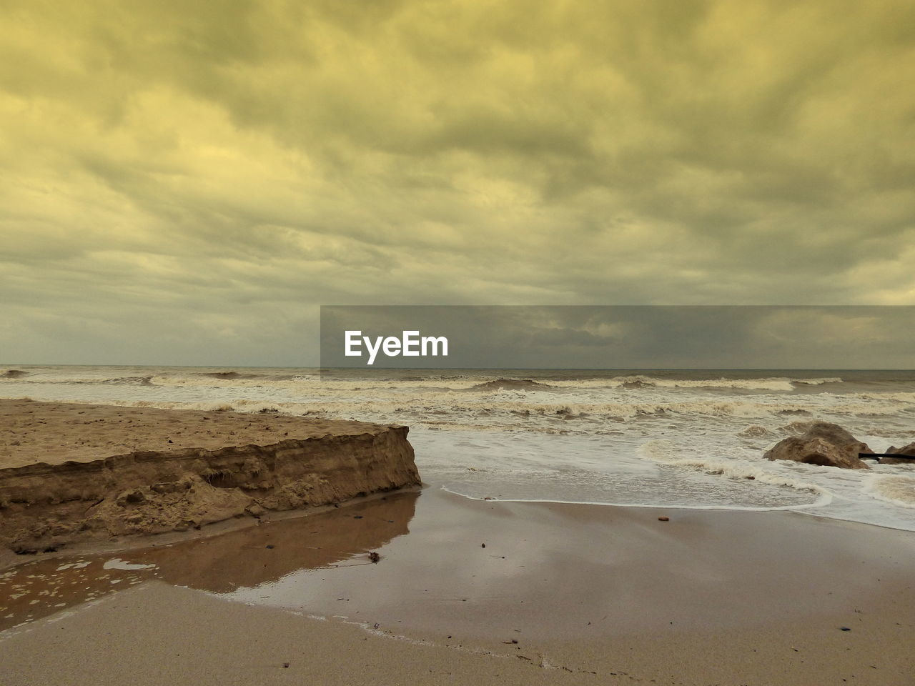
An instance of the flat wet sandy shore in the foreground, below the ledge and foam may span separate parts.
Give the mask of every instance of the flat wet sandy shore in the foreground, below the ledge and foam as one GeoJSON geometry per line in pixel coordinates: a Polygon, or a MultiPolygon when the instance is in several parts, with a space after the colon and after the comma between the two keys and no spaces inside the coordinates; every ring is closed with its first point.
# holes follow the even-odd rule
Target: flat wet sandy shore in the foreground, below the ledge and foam
{"type": "Polygon", "coordinates": [[[904,531],[426,488],[17,567],[0,683],[901,686],[912,569],[904,531]]]}

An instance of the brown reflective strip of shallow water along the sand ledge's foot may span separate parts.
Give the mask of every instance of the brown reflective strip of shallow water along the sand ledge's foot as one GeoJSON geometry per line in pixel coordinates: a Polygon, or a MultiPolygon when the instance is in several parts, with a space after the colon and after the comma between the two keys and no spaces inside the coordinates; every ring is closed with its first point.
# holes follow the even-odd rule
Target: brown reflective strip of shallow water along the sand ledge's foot
{"type": "Polygon", "coordinates": [[[398,493],[208,539],[22,564],[0,573],[0,630],[150,579],[229,593],[303,569],[371,564],[370,552],[409,533],[418,496],[398,493]]]}

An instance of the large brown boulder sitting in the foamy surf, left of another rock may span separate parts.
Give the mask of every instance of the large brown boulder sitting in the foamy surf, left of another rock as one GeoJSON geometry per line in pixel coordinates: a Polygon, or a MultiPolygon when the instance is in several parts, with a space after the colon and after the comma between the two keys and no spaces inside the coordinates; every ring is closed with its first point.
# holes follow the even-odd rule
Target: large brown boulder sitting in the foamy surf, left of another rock
{"type": "Polygon", "coordinates": [[[793,460],[807,465],[838,466],[844,469],[869,469],[858,453],[873,453],[838,424],[828,422],[799,423],[802,434],[773,445],[765,457],[770,460],[793,460]]]}

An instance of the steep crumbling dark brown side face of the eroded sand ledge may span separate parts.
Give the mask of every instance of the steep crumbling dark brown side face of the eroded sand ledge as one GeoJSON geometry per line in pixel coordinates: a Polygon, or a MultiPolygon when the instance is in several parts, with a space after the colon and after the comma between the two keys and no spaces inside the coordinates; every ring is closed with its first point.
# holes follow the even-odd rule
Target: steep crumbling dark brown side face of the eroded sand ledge
{"type": "MultiPolygon", "coordinates": [[[[81,413],[88,407],[92,416],[92,406],[73,407],[81,413]]],[[[144,414],[155,423],[162,413],[186,412],[144,414]]],[[[234,418],[217,418],[229,420],[234,418]]],[[[270,421],[276,423],[276,418],[270,421]]],[[[15,552],[35,552],[70,541],[184,531],[246,514],[327,505],[420,483],[405,426],[322,422],[315,431],[309,420],[298,422],[304,437],[269,445],[169,445],[94,460],[0,469],[0,544],[15,552]]]]}

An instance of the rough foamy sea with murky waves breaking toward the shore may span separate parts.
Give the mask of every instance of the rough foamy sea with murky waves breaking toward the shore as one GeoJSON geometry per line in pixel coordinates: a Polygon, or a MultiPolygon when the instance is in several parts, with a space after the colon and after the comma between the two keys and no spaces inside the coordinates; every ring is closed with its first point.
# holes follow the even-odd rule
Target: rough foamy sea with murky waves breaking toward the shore
{"type": "Polygon", "coordinates": [[[915,461],[770,461],[805,423],[915,441],[912,370],[354,370],[17,366],[0,397],[410,427],[430,488],[467,498],[788,510],[915,531],[915,461]]]}

